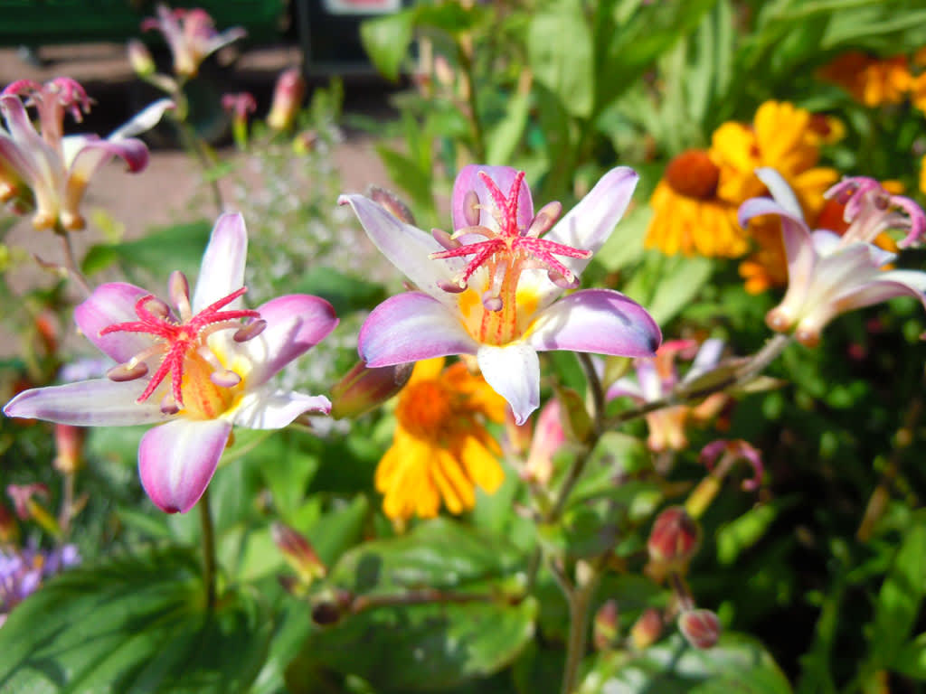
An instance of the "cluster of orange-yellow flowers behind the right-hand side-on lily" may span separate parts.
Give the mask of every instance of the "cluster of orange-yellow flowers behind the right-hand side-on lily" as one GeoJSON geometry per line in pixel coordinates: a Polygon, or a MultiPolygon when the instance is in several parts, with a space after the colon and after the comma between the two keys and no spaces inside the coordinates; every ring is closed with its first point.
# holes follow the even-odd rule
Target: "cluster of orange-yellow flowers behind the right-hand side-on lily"
{"type": "Polygon", "coordinates": [[[843,125],[795,105],[768,101],[751,124],[727,122],[714,131],[710,147],[682,152],[669,162],[650,200],[654,215],[644,244],[665,254],[741,257],[747,291],[765,291],[787,279],[777,220],[758,220],[741,229],[736,210],[765,192],[758,167],[778,170],[794,189],[813,223],[826,201],[823,192],[839,174],[818,167],[820,145],[839,140],[843,125]]]}

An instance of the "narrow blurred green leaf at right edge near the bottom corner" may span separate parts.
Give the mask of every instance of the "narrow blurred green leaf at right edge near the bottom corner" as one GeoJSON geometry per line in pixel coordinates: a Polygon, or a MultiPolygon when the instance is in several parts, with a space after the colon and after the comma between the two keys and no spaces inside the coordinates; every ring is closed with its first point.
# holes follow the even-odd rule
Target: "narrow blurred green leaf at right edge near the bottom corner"
{"type": "Polygon", "coordinates": [[[889,666],[907,640],[926,594],[926,523],[910,527],[884,578],[870,631],[870,670],[889,666]]]}

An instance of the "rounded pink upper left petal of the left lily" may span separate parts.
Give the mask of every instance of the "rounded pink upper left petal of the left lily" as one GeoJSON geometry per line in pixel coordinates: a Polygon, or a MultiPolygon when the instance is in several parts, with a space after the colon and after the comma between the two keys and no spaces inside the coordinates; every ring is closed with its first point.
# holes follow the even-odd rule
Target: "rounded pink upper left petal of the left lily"
{"type": "Polygon", "coordinates": [[[114,323],[138,320],[135,302],[150,293],[127,282],[101,284],[83,303],[74,309],[74,321],[87,340],[106,356],[126,362],[151,346],[152,337],[137,332],[111,332],[100,337],[100,330],[114,323]]]}

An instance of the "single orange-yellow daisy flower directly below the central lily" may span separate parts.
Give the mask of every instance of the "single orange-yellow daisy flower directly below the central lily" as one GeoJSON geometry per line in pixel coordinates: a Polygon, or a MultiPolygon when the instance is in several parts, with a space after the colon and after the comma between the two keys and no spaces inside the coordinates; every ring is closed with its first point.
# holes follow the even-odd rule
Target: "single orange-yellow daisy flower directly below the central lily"
{"type": "Polygon", "coordinates": [[[498,443],[483,426],[505,420],[507,403],[479,376],[444,359],[415,365],[399,393],[392,447],[376,468],[376,489],[390,518],[452,514],[471,509],[475,487],[493,493],[505,477],[498,443]]]}

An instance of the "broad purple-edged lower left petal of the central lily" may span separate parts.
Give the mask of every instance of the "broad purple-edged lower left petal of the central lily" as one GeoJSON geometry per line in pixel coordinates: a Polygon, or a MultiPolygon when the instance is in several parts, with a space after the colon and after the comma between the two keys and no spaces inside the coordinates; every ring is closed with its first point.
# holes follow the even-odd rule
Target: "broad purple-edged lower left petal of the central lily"
{"type": "Polygon", "coordinates": [[[407,291],[373,309],[360,328],[357,349],[368,366],[393,366],[450,354],[474,354],[478,345],[444,304],[407,291]]]}

